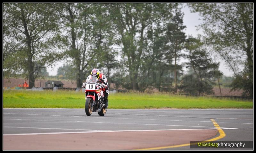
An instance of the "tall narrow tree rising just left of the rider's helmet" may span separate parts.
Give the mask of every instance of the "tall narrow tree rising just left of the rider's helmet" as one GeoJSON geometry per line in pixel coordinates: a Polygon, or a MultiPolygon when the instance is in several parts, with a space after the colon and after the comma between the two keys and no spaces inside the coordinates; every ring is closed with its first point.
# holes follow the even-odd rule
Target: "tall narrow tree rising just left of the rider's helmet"
{"type": "MultiPolygon", "coordinates": [[[[86,63],[86,43],[83,43],[83,39],[86,42],[88,34],[88,24],[83,25],[87,21],[86,16],[83,18],[81,14],[81,9],[77,7],[77,4],[57,4],[57,13],[56,16],[60,17],[60,26],[61,30],[65,31],[62,35],[62,42],[66,47],[66,55],[72,58],[72,64],[76,69],[76,87],[81,87],[82,80],[85,76],[83,70],[88,65],[86,63]],[[79,43],[80,42],[80,43],[79,43]]],[[[89,30],[90,31],[90,30],[89,30]]]]}

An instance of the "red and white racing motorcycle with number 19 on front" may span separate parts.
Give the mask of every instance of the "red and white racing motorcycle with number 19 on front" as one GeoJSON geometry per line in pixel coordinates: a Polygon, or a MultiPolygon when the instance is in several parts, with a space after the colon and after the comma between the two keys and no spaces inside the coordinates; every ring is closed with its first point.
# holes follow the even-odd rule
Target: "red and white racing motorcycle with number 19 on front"
{"type": "Polygon", "coordinates": [[[87,116],[92,115],[92,112],[98,112],[100,116],[104,116],[107,108],[104,107],[104,91],[105,86],[98,83],[98,78],[91,76],[87,83],[83,83],[85,87],[85,113],[87,116]]]}

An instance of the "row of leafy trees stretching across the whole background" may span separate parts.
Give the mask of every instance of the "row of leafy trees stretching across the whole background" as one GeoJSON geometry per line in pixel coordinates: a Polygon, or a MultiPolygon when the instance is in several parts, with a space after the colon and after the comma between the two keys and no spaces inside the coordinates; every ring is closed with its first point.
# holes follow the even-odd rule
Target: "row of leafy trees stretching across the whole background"
{"type": "Polygon", "coordinates": [[[224,86],[218,53],[232,89],[252,96],[252,4],[188,5],[203,17],[204,42],[185,35],[180,4],[3,4],[4,76],[23,75],[31,88],[62,58],[57,75],[77,88],[99,68],[118,88],[205,95],[224,86]]]}

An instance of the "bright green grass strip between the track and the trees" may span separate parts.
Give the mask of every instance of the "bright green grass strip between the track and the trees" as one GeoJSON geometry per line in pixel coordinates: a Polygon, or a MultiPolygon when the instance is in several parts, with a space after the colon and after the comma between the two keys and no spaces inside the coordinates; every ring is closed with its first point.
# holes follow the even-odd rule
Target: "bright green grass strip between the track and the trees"
{"type": "MultiPolygon", "coordinates": [[[[4,90],[4,108],[84,108],[84,93],[75,91],[4,90]]],[[[110,109],[145,108],[252,108],[252,100],[193,97],[170,94],[115,93],[109,94],[110,109]]]]}

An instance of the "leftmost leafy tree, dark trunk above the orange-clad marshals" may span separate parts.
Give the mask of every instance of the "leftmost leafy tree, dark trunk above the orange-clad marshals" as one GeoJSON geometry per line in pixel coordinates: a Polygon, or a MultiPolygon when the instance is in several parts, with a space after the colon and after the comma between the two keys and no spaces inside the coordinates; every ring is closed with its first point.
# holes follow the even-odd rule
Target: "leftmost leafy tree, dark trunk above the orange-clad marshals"
{"type": "Polygon", "coordinates": [[[3,4],[3,71],[25,76],[29,88],[42,69],[61,58],[54,11],[52,4],[3,4]]]}

